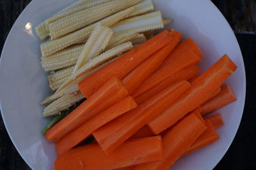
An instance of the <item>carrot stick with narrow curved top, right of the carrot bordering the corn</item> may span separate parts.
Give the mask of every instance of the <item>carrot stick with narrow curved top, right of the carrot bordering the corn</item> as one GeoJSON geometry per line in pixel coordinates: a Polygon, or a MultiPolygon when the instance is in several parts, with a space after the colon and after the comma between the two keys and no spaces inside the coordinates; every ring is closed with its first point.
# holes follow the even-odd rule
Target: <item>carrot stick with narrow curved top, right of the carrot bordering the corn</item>
{"type": "Polygon", "coordinates": [[[131,73],[122,80],[129,94],[132,94],[148,76],[156,71],[182,38],[182,35],[178,31],[171,31],[170,34],[172,34],[173,40],[168,43],[168,45],[150,55],[150,57],[141,62],[139,66],[133,69],[131,73]]]}

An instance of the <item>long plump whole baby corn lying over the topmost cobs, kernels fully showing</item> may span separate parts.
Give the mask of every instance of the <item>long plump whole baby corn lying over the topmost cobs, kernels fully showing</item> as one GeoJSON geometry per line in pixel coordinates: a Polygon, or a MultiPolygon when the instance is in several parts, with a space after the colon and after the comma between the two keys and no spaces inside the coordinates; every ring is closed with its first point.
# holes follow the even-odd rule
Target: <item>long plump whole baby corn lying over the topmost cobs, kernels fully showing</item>
{"type": "Polygon", "coordinates": [[[61,36],[65,36],[70,32],[77,31],[78,29],[93,24],[102,18],[113,15],[118,11],[125,10],[140,1],[141,0],[113,0],[63,17],[49,24],[51,38],[57,39],[61,36]]]}

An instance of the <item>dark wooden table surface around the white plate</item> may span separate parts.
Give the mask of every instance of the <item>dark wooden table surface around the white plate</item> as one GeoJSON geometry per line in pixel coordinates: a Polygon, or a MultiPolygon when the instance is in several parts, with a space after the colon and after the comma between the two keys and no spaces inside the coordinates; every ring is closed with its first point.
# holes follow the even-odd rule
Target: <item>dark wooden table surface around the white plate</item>
{"type": "MultiPolygon", "coordinates": [[[[0,52],[13,23],[31,0],[0,0],[0,52]]],[[[206,0],[207,1],[207,0],[206,0]]],[[[241,125],[232,145],[214,168],[256,169],[256,2],[212,0],[236,33],[246,67],[246,103],[241,125]]],[[[239,81],[239,80],[237,80],[239,81]]],[[[0,170],[30,169],[12,145],[0,115],[0,170]]]]}

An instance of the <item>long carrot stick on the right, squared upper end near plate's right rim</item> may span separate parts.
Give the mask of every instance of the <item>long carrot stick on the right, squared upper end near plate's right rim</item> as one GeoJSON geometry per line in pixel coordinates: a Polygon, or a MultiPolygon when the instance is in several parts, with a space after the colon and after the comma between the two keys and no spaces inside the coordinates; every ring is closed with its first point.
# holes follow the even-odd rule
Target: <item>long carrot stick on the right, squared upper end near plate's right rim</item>
{"type": "Polygon", "coordinates": [[[217,87],[236,70],[236,65],[227,55],[223,55],[213,66],[201,74],[191,83],[191,87],[184,92],[168,109],[154,118],[148,126],[154,134],[159,134],[175,124],[189,111],[203,104],[217,87]]]}

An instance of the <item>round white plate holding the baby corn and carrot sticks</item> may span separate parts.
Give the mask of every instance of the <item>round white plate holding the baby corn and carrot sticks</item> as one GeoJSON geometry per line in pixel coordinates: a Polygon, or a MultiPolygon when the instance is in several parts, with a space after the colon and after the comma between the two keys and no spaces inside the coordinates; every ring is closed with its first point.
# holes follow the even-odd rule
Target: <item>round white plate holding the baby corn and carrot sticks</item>
{"type": "MultiPolygon", "coordinates": [[[[42,117],[39,103],[51,94],[47,74],[40,66],[40,39],[35,26],[74,0],[33,0],[21,13],[6,39],[0,63],[0,101],[4,124],[13,144],[32,169],[53,169],[54,144],[40,133],[49,119],[42,117]]],[[[236,37],[220,11],[209,0],[156,0],[169,26],[184,37],[195,39],[205,54],[205,70],[224,53],[236,62],[237,71],[227,83],[237,101],[220,110],[225,125],[218,128],[221,139],[211,146],[182,157],[173,169],[212,169],[227,152],[241,121],[245,98],[243,57],[236,37]]]]}

